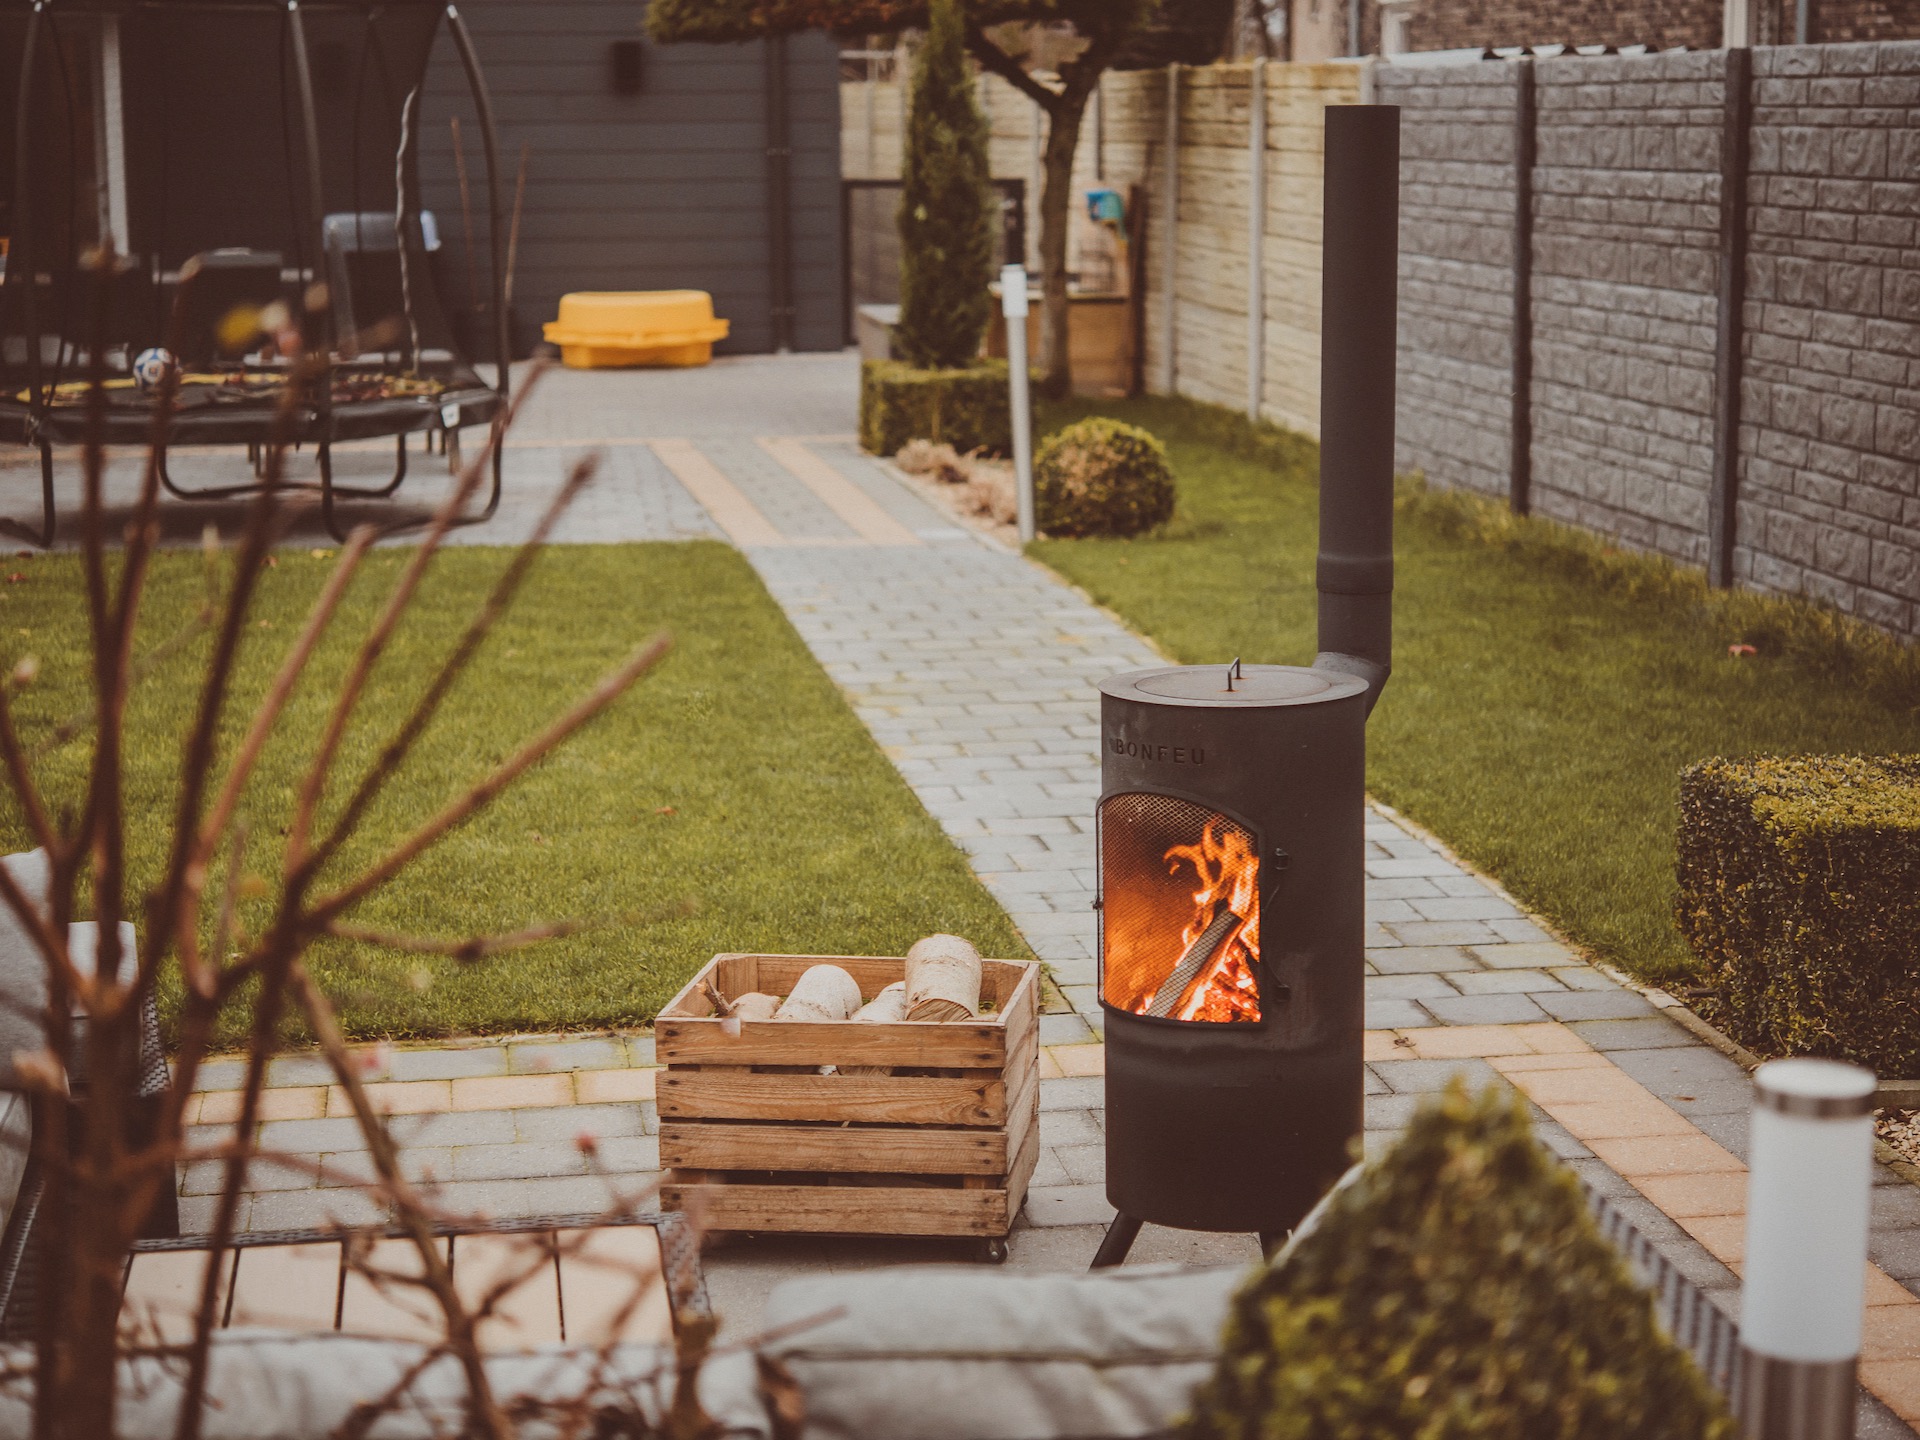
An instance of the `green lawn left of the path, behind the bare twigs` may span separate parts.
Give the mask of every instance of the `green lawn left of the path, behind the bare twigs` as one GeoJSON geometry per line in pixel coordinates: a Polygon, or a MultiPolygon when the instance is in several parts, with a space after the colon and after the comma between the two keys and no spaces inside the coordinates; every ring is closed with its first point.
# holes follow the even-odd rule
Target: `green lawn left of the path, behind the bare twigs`
{"type": "MultiPolygon", "coordinates": [[[[336,803],[378,753],[430,662],[511,551],[451,549],[376,672],[336,772],[336,803]]],[[[338,678],[405,561],[378,551],[313,660],[248,797],[252,868],[278,870],[278,835],[338,678]]],[[[238,695],[265,689],[330,561],[282,551],[263,584],[238,695]]],[[[29,741],[84,705],[79,564],[15,559],[0,586],[0,655],[38,655],[21,699],[29,741]]],[[[202,591],[198,555],[157,563],[142,649],[173,634],[202,591]]],[[[586,916],[614,924],[472,968],[328,945],[317,972],[359,1037],[637,1023],[716,950],[900,954],[956,931],[989,954],[1025,954],[939,826],[806,653],[745,559],[718,543],[547,551],[432,735],[340,862],[349,870],[503,758],[655,630],[666,662],[478,820],[355,916],[428,935],[511,931],[586,916]]],[[[131,868],[161,862],[180,735],[207,643],[179,655],[131,708],[131,868]]],[[[236,741],[250,707],[232,707],[236,741]]],[[[79,795],[84,743],[48,755],[56,797],[79,795]]],[[[19,816],[0,816],[19,849],[19,816]]],[[[228,1029],[228,1039],[234,1031],[228,1029]]]]}

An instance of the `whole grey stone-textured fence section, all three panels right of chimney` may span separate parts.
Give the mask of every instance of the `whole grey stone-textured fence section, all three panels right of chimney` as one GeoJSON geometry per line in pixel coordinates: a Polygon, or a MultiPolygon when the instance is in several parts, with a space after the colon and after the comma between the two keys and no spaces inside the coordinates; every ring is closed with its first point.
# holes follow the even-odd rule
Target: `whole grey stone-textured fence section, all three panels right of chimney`
{"type": "MultiPolygon", "coordinates": [[[[1536,67],[1532,495],[1707,555],[1724,52],[1536,67]]],[[[1398,459],[1509,480],[1515,65],[1405,113],[1398,459]]],[[[1755,50],[1734,572],[1920,634],[1920,44],[1755,50]]]]}

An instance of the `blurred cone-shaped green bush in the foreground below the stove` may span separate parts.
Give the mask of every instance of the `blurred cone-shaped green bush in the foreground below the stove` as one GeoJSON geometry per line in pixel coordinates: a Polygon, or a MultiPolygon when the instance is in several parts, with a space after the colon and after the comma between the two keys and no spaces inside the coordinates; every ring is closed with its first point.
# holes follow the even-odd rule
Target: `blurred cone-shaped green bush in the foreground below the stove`
{"type": "Polygon", "coordinates": [[[1732,1440],[1524,1102],[1453,1087],[1235,1296],[1181,1440],[1732,1440]]]}

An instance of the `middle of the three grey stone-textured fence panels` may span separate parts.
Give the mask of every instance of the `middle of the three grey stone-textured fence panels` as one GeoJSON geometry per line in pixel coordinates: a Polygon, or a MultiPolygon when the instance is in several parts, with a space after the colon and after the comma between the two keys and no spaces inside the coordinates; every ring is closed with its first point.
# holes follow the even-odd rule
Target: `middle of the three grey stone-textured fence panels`
{"type": "Polygon", "coordinates": [[[1701,563],[1724,52],[1536,61],[1534,511],[1701,563]]]}

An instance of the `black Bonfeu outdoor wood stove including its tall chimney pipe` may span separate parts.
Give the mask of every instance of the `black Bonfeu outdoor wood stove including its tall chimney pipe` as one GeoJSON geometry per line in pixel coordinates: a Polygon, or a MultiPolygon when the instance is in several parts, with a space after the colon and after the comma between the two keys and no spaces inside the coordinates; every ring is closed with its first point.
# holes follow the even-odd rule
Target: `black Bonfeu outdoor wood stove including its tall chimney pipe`
{"type": "Polygon", "coordinates": [[[1319,657],[1100,685],[1106,1194],[1290,1231],[1361,1129],[1365,724],[1392,647],[1400,111],[1327,109],[1319,657]]]}

